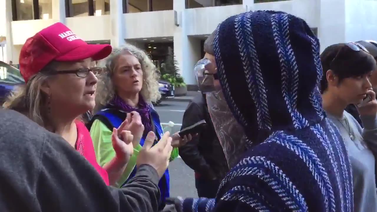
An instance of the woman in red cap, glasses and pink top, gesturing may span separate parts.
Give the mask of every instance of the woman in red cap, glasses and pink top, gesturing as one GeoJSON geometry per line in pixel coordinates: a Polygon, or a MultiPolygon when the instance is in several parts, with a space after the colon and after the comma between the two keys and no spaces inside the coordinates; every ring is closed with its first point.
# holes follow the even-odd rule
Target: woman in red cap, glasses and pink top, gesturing
{"type": "Polygon", "coordinates": [[[102,69],[93,68],[94,61],[111,51],[110,45],[87,44],[62,23],[51,25],[26,40],[19,58],[26,84],[12,92],[3,105],[61,135],[108,185],[118,180],[133,153],[132,134],[144,130],[135,113],[132,122],[125,121],[113,130],[115,157],[103,167],[98,165],[90,134],[78,117],[95,106],[96,76],[102,69]]]}

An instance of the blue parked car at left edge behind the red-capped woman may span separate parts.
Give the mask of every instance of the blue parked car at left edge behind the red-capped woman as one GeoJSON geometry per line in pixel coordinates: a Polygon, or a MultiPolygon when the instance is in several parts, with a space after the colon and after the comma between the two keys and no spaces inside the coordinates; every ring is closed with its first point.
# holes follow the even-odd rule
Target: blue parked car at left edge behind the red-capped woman
{"type": "Polygon", "coordinates": [[[15,85],[25,84],[20,70],[0,61],[0,106],[3,105],[5,97],[12,91],[15,85]]]}

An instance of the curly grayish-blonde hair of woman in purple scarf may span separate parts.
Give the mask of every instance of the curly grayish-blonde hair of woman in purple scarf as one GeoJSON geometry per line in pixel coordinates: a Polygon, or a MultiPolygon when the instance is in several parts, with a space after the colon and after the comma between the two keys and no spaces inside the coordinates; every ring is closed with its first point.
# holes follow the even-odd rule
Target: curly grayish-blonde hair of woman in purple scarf
{"type": "Polygon", "coordinates": [[[140,94],[147,103],[155,102],[161,98],[158,90],[159,74],[155,64],[143,50],[136,46],[126,44],[120,48],[113,48],[111,54],[101,60],[98,66],[105,68],[104,73],[99,77],[96,91],[96,109],[107,105],[115,96],[116,91],[112,83],[112,76],[115,72],[116,61],[120,55],[131,54],[139,60],[143,70],[143,86],[140,94]]]}

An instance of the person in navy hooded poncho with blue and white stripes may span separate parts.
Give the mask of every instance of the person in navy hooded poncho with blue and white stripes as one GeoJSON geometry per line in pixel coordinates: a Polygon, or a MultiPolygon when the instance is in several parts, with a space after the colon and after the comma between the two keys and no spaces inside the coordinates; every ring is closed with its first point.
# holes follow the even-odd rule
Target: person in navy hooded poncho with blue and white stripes
{"type": "Polygon", "coordinates": [[[284,12],[245,12],[222,22],[213,39],[217,69],[208,71],[248,150],[215,199],[187,198],[180,209],[352,212],[351,166],[322,109],[319,40],[307,23],[284,12]]]}

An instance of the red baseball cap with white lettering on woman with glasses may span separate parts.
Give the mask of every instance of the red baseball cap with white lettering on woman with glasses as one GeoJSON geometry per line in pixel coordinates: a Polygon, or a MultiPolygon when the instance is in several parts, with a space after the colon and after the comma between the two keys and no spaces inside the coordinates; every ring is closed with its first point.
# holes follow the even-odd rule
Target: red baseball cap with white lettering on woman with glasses
{"type": "Polygon", "coordinates": [[[108,44],[87,44],[58,22],[28,38],[20,52],[20,72],[25,82],[53,60],[101,60],[112,51],[108,44]]]}

